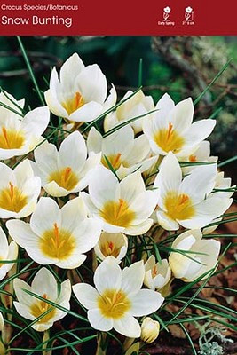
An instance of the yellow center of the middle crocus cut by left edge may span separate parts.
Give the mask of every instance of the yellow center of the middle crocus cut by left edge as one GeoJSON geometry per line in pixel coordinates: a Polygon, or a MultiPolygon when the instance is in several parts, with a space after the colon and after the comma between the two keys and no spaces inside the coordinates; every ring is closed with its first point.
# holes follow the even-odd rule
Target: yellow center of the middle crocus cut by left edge
{"type": "Polygon", "coordinates": [[[20,212],[28,203],[28,197],[25,196],[17,186],[9,183],[8,188],[0,191],[0,208],[12,212],[20,212]]]}

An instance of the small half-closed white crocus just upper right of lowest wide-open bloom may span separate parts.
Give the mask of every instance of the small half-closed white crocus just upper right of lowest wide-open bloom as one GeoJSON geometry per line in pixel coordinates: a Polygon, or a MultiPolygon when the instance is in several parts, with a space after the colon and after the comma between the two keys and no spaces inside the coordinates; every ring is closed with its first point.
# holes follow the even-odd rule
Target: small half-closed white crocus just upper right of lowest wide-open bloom
{"type": "Polygon", "coordinates": [[[170,266],[166,259],[162,260],[162,264],[155,262],[155,257],[150,256],[145,264],[144,285],[147,288],[158,289],[163,288],[171,277],[170,266]]]}

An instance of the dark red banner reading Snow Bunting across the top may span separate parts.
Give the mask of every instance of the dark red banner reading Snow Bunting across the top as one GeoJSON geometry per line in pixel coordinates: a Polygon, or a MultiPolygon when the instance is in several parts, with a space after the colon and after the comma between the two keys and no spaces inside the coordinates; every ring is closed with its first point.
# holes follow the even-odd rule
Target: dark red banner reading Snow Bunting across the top
{"type": "Polygon", "coordinates": [[[237,35],[236,1],[2,0],[0,35],[237,35]]]}

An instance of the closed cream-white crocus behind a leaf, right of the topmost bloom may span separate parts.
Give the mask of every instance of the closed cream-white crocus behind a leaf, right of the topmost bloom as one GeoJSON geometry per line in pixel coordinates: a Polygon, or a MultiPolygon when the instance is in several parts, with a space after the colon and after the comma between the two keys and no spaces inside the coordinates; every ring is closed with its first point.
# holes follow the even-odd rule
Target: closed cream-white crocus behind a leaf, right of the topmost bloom
{"type": "MultiPolygon", "coordinates": [[[[114,92],[113,94],[115,96],[114,92]]],[[[122,100],[129,98],[131,95],[132,91],[128,91],[123,96],[122,100]]],[[[125,101],[121,106],[118,106],[114,112],[107,114],[104,121],[104,130],[107,132],[107,130],[111,130],[113,127],[122,122],[127,122],[131,118],[147,114],[152,110],[154,110],[153,98],[151,96],[145,96],[140,90],[130,99],[127,99],[127,101],[125,101]]],[[[144,119],[146,119],[146,116],[130,123],[130,126],[134,129],[135,133],[142,131],[142,122],[144,119]]]]}

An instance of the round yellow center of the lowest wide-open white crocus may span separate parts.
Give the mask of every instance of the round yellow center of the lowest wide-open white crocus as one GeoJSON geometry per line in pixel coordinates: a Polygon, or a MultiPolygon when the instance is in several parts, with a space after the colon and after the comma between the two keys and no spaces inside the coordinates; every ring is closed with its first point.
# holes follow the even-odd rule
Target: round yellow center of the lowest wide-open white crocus
{"type": "Polygon", "coordinates": [[[98,306],[104,317],[120,319],[130,310],[130,300],[122,290],[107,289],[99,296],[98,306]]]}

